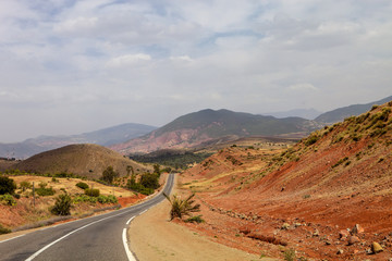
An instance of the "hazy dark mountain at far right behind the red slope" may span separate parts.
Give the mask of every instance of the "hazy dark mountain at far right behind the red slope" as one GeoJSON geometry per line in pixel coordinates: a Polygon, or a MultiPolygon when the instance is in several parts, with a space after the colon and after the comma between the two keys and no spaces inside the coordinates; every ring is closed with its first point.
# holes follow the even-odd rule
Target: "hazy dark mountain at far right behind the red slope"
{"type": "Polygon", "coordinates": [[[323,124],[333,124],[336,122],[341,122],[346,117],[350,116],[357,116],[362,113],[365,113],[371,109],[375,104],[383,104],[385,102],[389,102],[392,100],[392,96],[387,97],[382,100],[373,101],[366,104],[353,104],[348,107],[343,107],[335,109],[333,111],[329,111],[326,113],[322,113],[318,117],[315,119],[316,122],[323,123],[323,124]]]}

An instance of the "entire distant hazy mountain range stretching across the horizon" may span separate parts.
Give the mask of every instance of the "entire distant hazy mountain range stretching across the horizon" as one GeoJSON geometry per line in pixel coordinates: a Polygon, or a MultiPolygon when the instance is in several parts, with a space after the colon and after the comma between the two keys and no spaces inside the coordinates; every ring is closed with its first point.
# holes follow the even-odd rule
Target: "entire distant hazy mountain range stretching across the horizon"
{"type": "Polygon", "coordinates": [[[359,115],[373,104],[383,104],[385,99],[367,104],[354,104],[326,112],[311,119],[318,112],[314,109],[273,113],[274,116],[255,115],[229,110],[210,109],[189,113],[157,128],[127,123],[96,132],[71,136],[41,136],[16,144],[0,144],[0,158],[26,159],[33,154],[72,144],[97,144],[120,151],[123,154],[151,152],[161,149],[201,148],[249,136],[304,137],[323,125],[359,115]],[[278,119],[283,115],[302,115],[278,119]]]}

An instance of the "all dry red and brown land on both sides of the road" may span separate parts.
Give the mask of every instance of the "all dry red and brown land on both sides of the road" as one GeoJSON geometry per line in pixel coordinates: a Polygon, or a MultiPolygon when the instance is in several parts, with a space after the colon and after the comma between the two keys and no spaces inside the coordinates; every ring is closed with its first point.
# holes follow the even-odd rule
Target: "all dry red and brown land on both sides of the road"
{"type": "MultiPolygon", "coordinates": [[[[170,222],[169,202],[152,208],[146,219],[142,215],[135,220],[128,233],[131,238],[138,238],[131,244],[135,254],[139,260],[152,257],[187,260],[189,246],[201,251],[206,244],[211,244],[203,252],[205,256],[193,257],[220,257],[211,260],[391,258],[392,102],[373,105],[368,112],[324,126],[297,141],[294,134],[291,136],[243,137],[200,150],[211,152],[215,148],[216,152],[176,174],[174,194],[181,197],[195,194],[200,212],[193,215],[203,222],[184,222],[184,219],[170,222]],[[157,226],[143,228],[148,222],[157,226]],[[150,229],[157,229],[154,243],[146,241],[150,229]],[[164,236],[168,233],[172,235],[170,240],[164,236]],[[170,241],[177,244],[177,240],[195,245],[184,246],[181,251],[170,250],[170,241]],[[229,249],[233,252],[224,256],[229,249]]],[[[157,159],[162,153],[157,153],[157,159]]],[[[32,224],[51,224],[45,221],[54,217],[48,211],[54,196],[37,197],[34,208],[32,188],[24,189],[23,182],[45,184],[60,194],[66,191],[77,197],[83,190],[75,185],[85,181],[101,195],[117,197],[118,203],[74,203],[72,215],[79,219],[97,210],[108,211],[119,208],[115,207],[119,203],[127,207],[145,199],[146,196],[127,187],[133,178],[131,169],[139,179],[143,172],[156,173],[163,167],[131,161],[96,145],[72,145],[25,161],[3,161],[3,170],[12,166],[21,167],[17,175],[14,171],[10,176],[21,198],[14,206],[0,206],[0,222],[14,231],[34,227],[32,224]],[[117,186],[86,179],[100,178],[94,174],[102,172],[109,163],[122,170],[114,178],[117,186]],[[73,169],[64,169],[66,165],[73,169]],[[52,176],[26,175],[23,173],[26,170],[52,176]],[[70,170],[84,179],[54,177],[56,173],[61,176],[70,170]]],[[[161,175],[160,184],[164,179],[166,175],[161,175]]]]}

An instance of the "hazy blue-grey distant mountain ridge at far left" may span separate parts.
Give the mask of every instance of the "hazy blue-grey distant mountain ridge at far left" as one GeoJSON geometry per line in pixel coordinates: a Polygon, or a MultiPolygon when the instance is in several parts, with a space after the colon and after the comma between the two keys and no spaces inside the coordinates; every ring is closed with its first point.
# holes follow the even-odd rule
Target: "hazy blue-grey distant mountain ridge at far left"
{"type": "Polygon", "coordinates": [[[154,126],[126,123],[90,133],[71,136],[40,136],[23,142],[0,144],[0,157],[26,159],[36,153],[71,144],[97,144],[110,146],[143,136],[156,129],[154,126]]]}

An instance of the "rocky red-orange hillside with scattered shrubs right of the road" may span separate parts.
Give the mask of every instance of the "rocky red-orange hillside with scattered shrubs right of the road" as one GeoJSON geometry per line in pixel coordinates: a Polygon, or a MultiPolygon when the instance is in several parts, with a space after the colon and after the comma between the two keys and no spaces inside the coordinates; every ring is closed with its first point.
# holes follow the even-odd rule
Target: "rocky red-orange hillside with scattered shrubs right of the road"
{"type": "Polygon", "coordinates": [[[375,107],[289,149],[231,147],[206,159],[180,178],[205,207],[206,224],[193,227],[280,258],[283,244],[297,258],[365,260],[376,241],[384,252],[375,260],[388,259],[391,112],[392,102],[375,107]]]}

